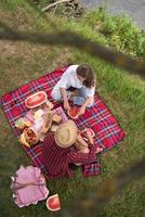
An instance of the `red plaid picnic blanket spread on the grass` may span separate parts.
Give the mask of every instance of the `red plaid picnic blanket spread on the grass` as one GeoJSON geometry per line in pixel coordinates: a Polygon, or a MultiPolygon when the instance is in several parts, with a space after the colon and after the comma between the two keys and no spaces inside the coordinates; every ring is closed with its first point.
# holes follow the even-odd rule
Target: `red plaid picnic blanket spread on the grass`
{"type": "MultiPolygon", "coordinates": [[[[63,67],[52,73],[48,73],[47,75],[32,80],[14,91],[5,93],[1,98],[3,112],[17,138],[21,132],[15,127],[15,120],[25,116],[28,111],[24,103],[26,98],[37,91],[43,90],[47,92],[48,99],[53,102],[51,98],[51,90],[60,80],[66,68],[67,67],[63,67]]],[[[61,102],[53,102],[53,104],[54,108],[57,107],[58,111],[61,110],[58,107],[63,106],[63,103],[61,102]]],[[[88,108],[87,112],[75,122],[80,130],[88,127],[94,130],[96,133],[95,145],[102,146],[104,152],[114,148],[124,138],[124,131],[121,129],[117,119],[97,93],[94,97],[94,105],[88,108]]],[[[21,145],[26,150],[35,165],[39,167],[47,177],[47,170],[41,161],[42,143],[40,142],[31,148],[27,148],[23,144],[21,145]]],[[[98,162],[85,165],[85,167],[82,168],[82,171],[85,177],[100,174],[98,162]]]]}

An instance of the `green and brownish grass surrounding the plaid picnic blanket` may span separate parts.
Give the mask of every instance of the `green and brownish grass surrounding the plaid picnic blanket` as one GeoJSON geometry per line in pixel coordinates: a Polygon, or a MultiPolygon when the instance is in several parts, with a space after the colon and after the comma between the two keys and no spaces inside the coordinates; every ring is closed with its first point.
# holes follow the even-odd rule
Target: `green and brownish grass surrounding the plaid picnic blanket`
{"type": "MultiPolygon", "coordinates": [[[[116,33],[119,38],[119,47],[118,43],[114,43],[115,49],[120,50],[122,46],[123,52],[133,52],[133,56],[143,59],[144,48],[142,48],[142,52],[136,51],[136,47],[132,49],[128,46],[124,49],[120,31],[116,29],[117,22],[120,20],[124,26],[122,29],[126,30],[128,26],[131,35],[137,27],[130,28],[132,24],[124,17],[109,17],[109,24],[107,24],[107,17],[108,15],[104,11],[102,13],[96,11],[88,13],[80,21],[70,20],[68,22],[66,18],[54,17],[52,14],[48,17],[42,16],[38,10],[31,8],[24,0],[0,1],[0,18],[13,28],[50,33],[53,31],[51,25],[53,23],[58,29],[74,30],[107,47],[113,46],[113,35],[116,33]],[[108,29],[111,29],[111,34],[108,34],[108,29]]],[[[141,34],[140,29],[136,31],[141,34]]],[[[127,38],[124,35],[122,37],[127,38]]],[[[142,41],[144,41],[144,37],[142,33],[142,41]]],[[[142,41],[139,41],[142,44],[142,41]]],[[[106,177],[123,170],[141,159],[145,150],[145,82],[137,76],[131,76],[127,72],[119,71],[77,49],[0,41],[0,93],[4,94],[68,63],[88,63],[94,68],[97,78],[96,89],[126,130],[127,137],[119,145],[102,156],[102,174],[100,176],[83,179],[78,170],[72,179],[48,181],[51,194],[60,194],[62,206],[71,200],[77,200],[80,192],[93,189],[94,184],[101,184],[106,177]]],[[[0,110],[0,216],[53,216],[47,210],[44,202],[24,208],[18,208],[13,203],[10,177],[19,165],[30,165],[31,161],[13,135],[2,110],[0,110]]],[[[101,214],[93,214],[93,216],[143,216],[144,195],[144,179],[142,179],[131,183],[120,195],[115,196],[101,214]]]]}

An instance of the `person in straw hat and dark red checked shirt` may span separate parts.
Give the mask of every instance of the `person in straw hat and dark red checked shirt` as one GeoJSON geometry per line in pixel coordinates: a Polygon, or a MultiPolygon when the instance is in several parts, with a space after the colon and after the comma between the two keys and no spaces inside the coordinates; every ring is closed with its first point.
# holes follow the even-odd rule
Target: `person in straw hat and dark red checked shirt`
{"type": "Polygon", "coordinates": [[[42,161],[50,178],[71,177],[69,165],[85,165],[96,162],[96,148],[90,130],[85,130],[88,142],[82,138],[76,124],[67,120],[58,126],[55,132],[45,137],[42,148],[42,161]]]}

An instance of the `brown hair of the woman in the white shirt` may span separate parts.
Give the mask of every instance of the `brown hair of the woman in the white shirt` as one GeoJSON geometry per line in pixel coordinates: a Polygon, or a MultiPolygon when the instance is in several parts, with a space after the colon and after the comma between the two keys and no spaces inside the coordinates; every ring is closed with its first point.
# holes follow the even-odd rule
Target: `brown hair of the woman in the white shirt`
{"type": "Polygon", "coordinates": [[[79,65],[79,67],[77,68],[77,75],[84,78],[83,85],[87,88],[95,87],[95,74],[89,65],[79,65]]]}

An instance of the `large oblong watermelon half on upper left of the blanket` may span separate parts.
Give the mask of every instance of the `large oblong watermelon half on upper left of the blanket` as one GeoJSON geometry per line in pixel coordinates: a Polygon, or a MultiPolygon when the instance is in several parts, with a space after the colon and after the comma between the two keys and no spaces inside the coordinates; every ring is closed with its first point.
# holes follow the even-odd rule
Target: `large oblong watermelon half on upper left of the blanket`
{"type": "Polygon", "coordinates": [[[43,104],[47,101],[47,93],[44,91],[39,91],[35,94],[31,94],[25,100],[25,105],[28,108],[37,107],[43,104]]]}

